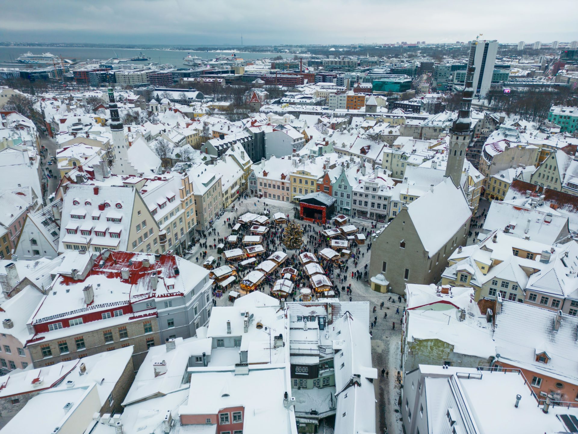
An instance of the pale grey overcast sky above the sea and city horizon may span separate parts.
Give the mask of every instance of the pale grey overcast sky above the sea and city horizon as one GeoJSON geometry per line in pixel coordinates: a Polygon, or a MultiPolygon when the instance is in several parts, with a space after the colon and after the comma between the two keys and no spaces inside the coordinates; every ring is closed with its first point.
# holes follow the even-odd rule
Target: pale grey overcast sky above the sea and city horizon
{"type": "Polygon", "coordinates": [[[578,0],[0,0],[0,41],[171,45],[578,39],[578,0]]]}

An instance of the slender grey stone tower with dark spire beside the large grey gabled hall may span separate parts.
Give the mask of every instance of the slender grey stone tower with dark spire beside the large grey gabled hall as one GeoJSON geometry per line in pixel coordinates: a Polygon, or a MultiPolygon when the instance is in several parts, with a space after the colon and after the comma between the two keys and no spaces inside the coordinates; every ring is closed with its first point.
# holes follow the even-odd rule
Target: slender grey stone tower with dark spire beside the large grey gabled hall
{"type": "MultiPolygon", "coordinates": [[[[473,50],[475,50],[474,46],[470,49],[470,58],[473,50]]],[[[471,65],[468,67],[458,118],[450,128],[450,145],[447,155],[446,176],[451,178],[451,181],[456,187],[460,186],[462,171],[464,170],[464,161],[466,158],[466,149],[468,149],[473,132],[470,109],[472,106],[475,69],[476,68],[471,65]]]]}

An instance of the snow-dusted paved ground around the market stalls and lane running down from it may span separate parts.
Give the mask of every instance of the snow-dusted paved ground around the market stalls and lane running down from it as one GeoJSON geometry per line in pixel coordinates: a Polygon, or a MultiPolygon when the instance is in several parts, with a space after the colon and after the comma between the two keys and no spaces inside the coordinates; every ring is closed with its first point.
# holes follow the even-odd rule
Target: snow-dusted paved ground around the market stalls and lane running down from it
{"type": "MultiPolygon", "coordinates": [[[[218,244],[218,241],[213,241],[213,238],[218,240],[219,237],[223,238],[231,234],[231,231],[227,227],[227,218],[231,218],[231,222],[233,222],[234,218],[238,218],[239,216],[243,215],[245,212],[253,212],[255,214],[262,214],[265,209],[269,209],[271,211],[271,215],[275,214],[276,212],[283,212],[285,215],[289,215],[290,219],[294,217],[294,205],[291,203],[276,201],[276,200],[269,200],[266,199],[265,201],[257,198],[247,198],[242,199],[242,203],[239,200],[236,200],[235,203],[235,211],[229,207],[225,209],[225,213],[220,219],[216,220],[213,224],[213,228],[216,230],[216,234],[210,234],[206,242],[210,244],[218,244]],[[266,204],[266,207],[265,205],[266,204]]],[[[312,225],[315,231],[322,230],[323,228],[318,225],[314,225],[313,223],[309,222],[302,222],[298,220],[302,224],[312,225]]],[[[357,226],[360,229],[361,233],[366,233],[368,230],[371,229],[371,222],[370,220],[364,219],[350,219],[350,223],[357,226]]],[[[308,234],[305,234],[305,237],[308,234]]],[[[203,239],[204,241],[204,239],[203,239]]],[[[360,245],[361,255],[358,260],[358,267],[357,270],[360,270],[362,273],[365,271],[365,265],[368,265],[369,269],[369,259],[370,253],[367,251],[367,245],[369,244],[370,240],[367,241],[366,245],[360,245]]],[[[225,247],[226,249],[226,247],[225,247]]],[[[187,255],[187,259],[195,262],[195,258],[205,251],[205,248],[202,248],[197,244],[192,250],[189,255],[187,255]]],[[[216,249],[208,248],[207,257],[214,256],[218,258],[220,255],[217,254],[216,249]]],[[[287,251],[288,255],[291,255],[295,251],[287,251]]],[[[199,258],[199,264],[202,264],[201,258],[199,258]]],[[[222,261],[221,264],[224,264],[222,261]]],[[[350,270],[353,269],[353,260],[350,259],[348,262],[350,270]]],[[[240,273],[243,274],[243,273],[240,273]]],[[[334,282],[335,283],[335,282],[334,282]]],[[[401,413],[397,413],[395,410],[399,409],[398,400],[401,393],[400,385],[397,383],[397,372],[400,370],[401,366],[401,325],[400,319],[402,317],[403,308],[405,307],[405,300],[401,300],[401,303],[398,302],[397,294],[381,294],[375,291],[372,291],[368,281],[366,279],[351,279],[351,274],[349,273],[349,278],[344,285],[349,285],[351,283],[352,288],[352,301],[369,301],[369,308],[370,308],[370,319],[374,319],[377,317],[376,326],[372,329],[370,324],[368,324],[368,332],[371,331],[373,333],[373,340],[372,340],[372,360],[373,360],[373,367],[377,369],[379,378],[374,382],[375,385],[375,395],[376,395],[376,427],[377,432],[379,433],[401,433],[402,432],[402,424],[399,421],[401,417],[401,413]],[[392,297],[392,301],[390,301],[390,296],[392,297]],[[383,309],[380,309],[381,302],[384,302],[383,309]],[[373,307],[376,307],[375,314],[372,313],[373,307]],[[399,313],[396,313],[397,308],[399,308],[399,313]],[[387,314],[387,319],[384,318],[384,314],[387,314]],[[392,329],[392,324],[395,322],[395,330],[392,329]],[[385,369],[389,373],[389,377],[381,377],[381,370],[385,369]]],[[[342,284],[339,284],[339,287],[342,284]]],[[[263,285],[265,286],[265,285],[263,285]]],[[[232,288],[234,289],[234,288],[232,288]]],[[[264,289],[265,293],[268,293],[268,289],[264,289]]],[[[349,301],[349,296],[345,293],[342,293],[340,299],[343,301],[349,301]]],[[[216,301],[217,306],[232,306],[232,303],[228,301],[228,297],[226,293],[220,299],[216,301]]]]}

